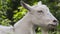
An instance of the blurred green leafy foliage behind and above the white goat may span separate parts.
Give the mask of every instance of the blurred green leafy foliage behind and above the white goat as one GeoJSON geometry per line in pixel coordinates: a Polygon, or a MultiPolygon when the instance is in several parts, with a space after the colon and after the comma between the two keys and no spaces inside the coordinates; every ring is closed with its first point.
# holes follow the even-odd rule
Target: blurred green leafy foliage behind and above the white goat
{"type": "MultiPolygon", "coordinates": [[[[0,0],[0,25],[14,25],[20,20],[27,10],[20,5],[21,0],[0,0]]],[[[29,5],[36,5],[42,1],[47,5],[51,13],[59,20],[60,24],[60,0],[23,0],[29,5]]],[[[60,29],[60,25],[58,26],[60,29]]]]}

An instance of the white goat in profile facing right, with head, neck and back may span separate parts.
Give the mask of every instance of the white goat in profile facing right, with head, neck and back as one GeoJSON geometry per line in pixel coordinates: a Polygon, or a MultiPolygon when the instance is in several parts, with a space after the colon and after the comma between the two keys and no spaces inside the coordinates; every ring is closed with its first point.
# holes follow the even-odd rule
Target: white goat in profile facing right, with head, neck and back
{"type": "Polygon", "coordinates": [[[0,34],[36,34],[36,26],[41,27],[42,34],[48,34],[48,29],[52,29],[58,24],[49,8],[41,1],[35,6],[29,6],[21,1],[21,5],[28,10],[28,13],[14,27],[0,26],[0,34]]]}

